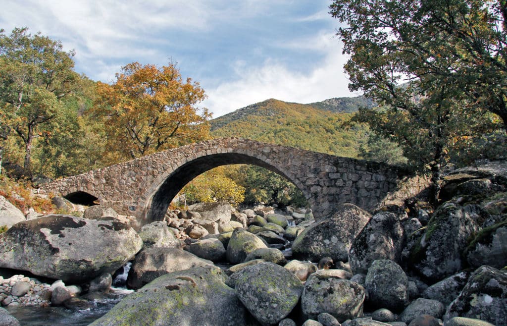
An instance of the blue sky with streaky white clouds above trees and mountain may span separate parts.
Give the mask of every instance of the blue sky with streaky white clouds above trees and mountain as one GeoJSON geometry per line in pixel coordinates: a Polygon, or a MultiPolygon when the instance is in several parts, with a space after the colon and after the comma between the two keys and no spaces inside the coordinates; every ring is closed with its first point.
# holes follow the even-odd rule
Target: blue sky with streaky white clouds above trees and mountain
{"type": "Polygon", "coordinates": [[[75,50],[75,70],[113,83],[122,66],[176,63],[213,118],[276,98],[357,96],[343,72],[331,0],[7,0],[0,28],[28,27],[75,50]]]}

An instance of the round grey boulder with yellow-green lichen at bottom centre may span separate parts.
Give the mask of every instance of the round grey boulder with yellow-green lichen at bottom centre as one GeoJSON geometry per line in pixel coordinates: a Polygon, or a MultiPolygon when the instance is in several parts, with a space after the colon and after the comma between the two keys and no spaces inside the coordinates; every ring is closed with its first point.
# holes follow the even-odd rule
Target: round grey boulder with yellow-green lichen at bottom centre
{"type": "Polygon", "coordinates": [[[238,273],[238,298],[262,324],[279,322],[298,304],[303,284],[285,268],[266,262],[238,273]]]}

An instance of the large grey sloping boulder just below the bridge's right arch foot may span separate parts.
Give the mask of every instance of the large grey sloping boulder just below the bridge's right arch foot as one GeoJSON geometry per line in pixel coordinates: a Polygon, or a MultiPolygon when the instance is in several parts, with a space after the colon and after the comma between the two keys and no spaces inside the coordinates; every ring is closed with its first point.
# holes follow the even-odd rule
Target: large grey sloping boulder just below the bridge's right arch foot
{"type": "Polygon", "coordinates": [[[318,262],[323,257],[348,261],[352,240],[370,220],[367,211],[352,204],[340,205],[334,213],[306,228],[292,245],[293,257],[318,262]]]}

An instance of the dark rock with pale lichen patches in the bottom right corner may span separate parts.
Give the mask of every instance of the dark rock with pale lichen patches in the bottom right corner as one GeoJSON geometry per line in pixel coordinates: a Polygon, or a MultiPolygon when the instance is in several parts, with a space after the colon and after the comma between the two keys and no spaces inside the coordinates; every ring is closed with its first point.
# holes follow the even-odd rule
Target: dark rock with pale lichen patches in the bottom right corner
{"type": "Polygon", "coordinates": [[[493,267],[479,267],[447,307],[444,321],[457,316],[507,325],[507,274],[493,267]]]}

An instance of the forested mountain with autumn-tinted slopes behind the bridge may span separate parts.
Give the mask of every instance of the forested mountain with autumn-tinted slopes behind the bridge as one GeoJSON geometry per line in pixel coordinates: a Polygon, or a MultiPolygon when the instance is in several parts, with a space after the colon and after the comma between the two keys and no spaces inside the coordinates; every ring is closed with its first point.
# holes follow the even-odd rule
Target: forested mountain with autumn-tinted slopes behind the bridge
{"type": "Polygon", "coordinates": [[[311,104],[276,99],[251,104],[213,119],[214,137],[244,137],[305,150],[357,157],[366,128],[341,125],[359,106],[372,106],[363,97],[332,98],[311,104]]]}

